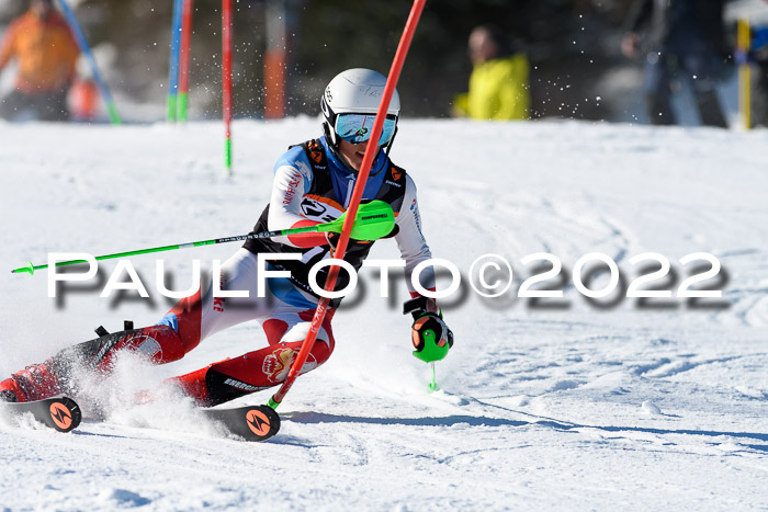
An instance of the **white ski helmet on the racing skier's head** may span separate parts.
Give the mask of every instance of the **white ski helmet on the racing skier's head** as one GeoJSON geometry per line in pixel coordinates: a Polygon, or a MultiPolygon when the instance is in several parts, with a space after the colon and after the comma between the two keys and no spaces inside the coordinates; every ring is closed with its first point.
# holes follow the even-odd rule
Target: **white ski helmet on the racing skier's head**
{"type": "MultiPolygon", "coordinates": [[[[385,84],[386,77],[384,75],[364,68],[348,69],[334,77],[320,100],[320,109],[325,118],[324,129],[332,146],[339,144],[336,130],[338,116],[341,114],[374,116],[384,95],[385,84]]],[[[386,116],[394,120],[396,125],[399,114],[400,96],[395,89],[386,116]]],[[[392,144],[393,138],[394,133],[387,141],[387,146],[392,144]]]]}

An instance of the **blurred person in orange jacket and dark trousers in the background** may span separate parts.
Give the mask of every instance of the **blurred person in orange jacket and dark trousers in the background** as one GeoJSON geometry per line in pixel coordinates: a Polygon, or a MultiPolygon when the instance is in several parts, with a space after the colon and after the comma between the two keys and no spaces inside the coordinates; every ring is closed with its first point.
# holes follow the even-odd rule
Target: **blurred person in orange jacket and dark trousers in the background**
{"type": "Polygon", "coordinates": [[[0,44],[0,69],[19,61],[15,90],[0,101],[0,117],[14,118],[32,110],[42,121],[67,121],[67,92],[80,50],[67,22],[52,0],[32,0],[0,44]]]}

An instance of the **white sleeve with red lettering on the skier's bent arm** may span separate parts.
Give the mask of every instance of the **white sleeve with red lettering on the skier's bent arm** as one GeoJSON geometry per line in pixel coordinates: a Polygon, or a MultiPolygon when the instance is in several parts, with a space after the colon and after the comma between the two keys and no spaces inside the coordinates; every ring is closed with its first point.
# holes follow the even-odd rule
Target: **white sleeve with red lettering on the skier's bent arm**
{"type": "MultiPolygon", "coordinates": [[[[289,229],[296,223],[307,220],[302,214],[302,197],[309,190],[310,184],[312,170],[301,160],[275,169],[267,218],[270,231],[289,229]]],[[[289,241],[287,237],[274,237],[272,240],[296,247],[289,241]]]]}

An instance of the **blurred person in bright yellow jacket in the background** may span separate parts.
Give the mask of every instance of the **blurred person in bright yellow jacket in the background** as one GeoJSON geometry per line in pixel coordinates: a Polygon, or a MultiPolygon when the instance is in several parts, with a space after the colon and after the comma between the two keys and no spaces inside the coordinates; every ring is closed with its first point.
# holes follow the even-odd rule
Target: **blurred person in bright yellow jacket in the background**
{"type": "Polygon", "coordinates": [[[474,69],[470,91],[453,101],[454,115],[473,120],[528,120],[530,111],[529,65],[522,54],[512,54],[504,33],[478,26],[470,35],[474,69]]]}

